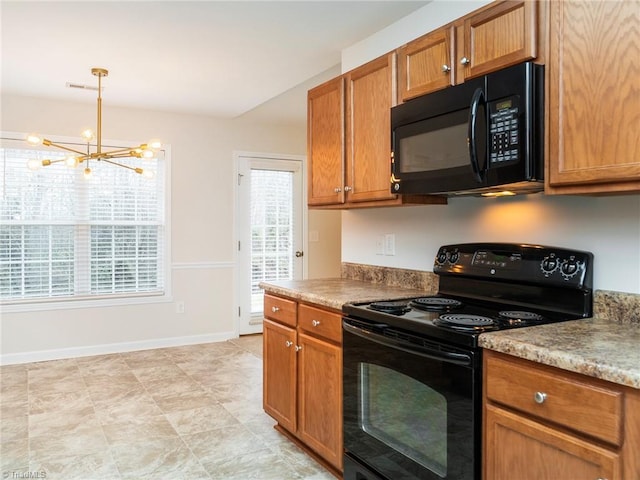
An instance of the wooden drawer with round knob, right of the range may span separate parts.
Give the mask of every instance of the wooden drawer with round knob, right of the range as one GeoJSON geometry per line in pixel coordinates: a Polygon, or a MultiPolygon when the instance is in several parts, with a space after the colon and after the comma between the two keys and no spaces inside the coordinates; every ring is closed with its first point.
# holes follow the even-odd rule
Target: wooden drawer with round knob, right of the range
{"type": "Polygon", "coordinates": [[[490,352],[485,375],[489,400],[621,444],[623,393],[613,386],[490,352]]]}

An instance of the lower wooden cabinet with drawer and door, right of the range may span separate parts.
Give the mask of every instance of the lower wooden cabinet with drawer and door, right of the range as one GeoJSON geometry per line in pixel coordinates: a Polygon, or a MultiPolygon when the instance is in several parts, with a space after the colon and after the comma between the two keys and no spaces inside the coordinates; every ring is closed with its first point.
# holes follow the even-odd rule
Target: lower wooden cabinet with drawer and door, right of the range
{"type": "Polygon", "coordinates": [[[484,355],[485,479],[637,478],[640,391],[484,355]]]}

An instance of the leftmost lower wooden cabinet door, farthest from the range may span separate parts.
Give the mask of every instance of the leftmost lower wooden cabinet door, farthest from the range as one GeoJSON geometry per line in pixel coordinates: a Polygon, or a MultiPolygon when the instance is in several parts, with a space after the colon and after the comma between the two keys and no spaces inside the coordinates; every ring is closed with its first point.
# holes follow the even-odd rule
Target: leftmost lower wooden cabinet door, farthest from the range
{"type": "Polygon", "coordinates": [[[263,323],[263,396],[265,412],[296,431],[296,331],[271,320],[263,323]]]}

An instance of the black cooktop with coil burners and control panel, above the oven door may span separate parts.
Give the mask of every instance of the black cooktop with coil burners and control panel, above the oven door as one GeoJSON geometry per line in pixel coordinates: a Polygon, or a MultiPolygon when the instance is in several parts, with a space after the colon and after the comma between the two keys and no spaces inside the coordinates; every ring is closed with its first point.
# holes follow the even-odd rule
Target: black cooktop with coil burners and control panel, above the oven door
{"type": "Polygon", "coordinates": [[[353,303],[343,314],[455,345],[483,332],[592,315],[593,255],[528,244],[469,243],[438,250],[438,293],[353,303]]]}

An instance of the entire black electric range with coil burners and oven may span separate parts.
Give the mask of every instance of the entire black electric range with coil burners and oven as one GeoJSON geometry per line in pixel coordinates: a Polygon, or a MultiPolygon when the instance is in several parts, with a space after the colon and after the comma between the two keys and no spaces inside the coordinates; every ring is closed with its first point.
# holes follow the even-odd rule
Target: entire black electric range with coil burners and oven
{"type": "Polygon", "coordinates": [[[564,248],[447,245],[435,296],[343,306],[345,480],[480,480],[478,337],[591,316],[592,268],[564,248]]]}

